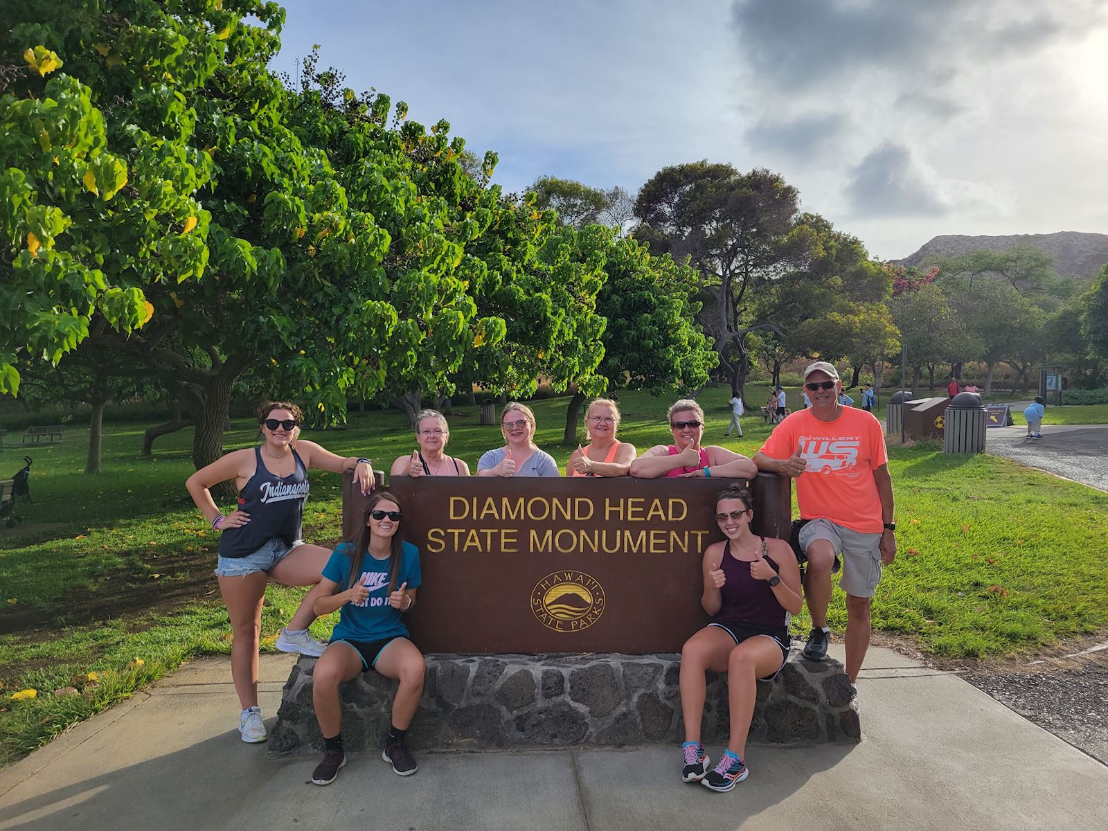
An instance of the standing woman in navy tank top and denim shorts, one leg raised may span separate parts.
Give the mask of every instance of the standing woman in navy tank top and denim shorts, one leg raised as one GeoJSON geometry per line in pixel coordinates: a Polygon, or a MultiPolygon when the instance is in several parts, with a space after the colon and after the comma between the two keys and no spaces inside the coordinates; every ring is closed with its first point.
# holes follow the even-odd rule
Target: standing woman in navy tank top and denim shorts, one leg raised
{"type": "MultiPolygon", "coordinates": [[[[196,506],[219,532],[219,592],[230,618],[230,675],[242,704],[238,730],[244,741],[266,740],[258,709],[258,635],[266,583],[317,586],[330,550],[300,538],[300,519],[308,497],[308,469],[341,473],[353,470],[362,493],[373,488],[368,459],[339,456],[312,441],[296,441],[300,408],[270,402],[258,411],[265,437],[260,447],[233,450],[188,478],[185,486],[196,506]],[[295,447],[294,447],[295,442],[295,447]],[[226,516],[208,489],[234,479],[238,505],[226,516]]],[[[305,596],[288,626],[281,629],[281,652],[319,656],[324,646],[308,635],[316,619],[317,589],[305,596]]]]}

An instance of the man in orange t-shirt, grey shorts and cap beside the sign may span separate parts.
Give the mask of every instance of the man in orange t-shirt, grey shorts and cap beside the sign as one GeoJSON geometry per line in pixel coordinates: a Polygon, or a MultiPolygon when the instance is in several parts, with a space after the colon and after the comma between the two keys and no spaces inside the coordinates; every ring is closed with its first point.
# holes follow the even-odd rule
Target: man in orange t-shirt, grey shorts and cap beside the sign
{"type": "Polygon", "coordinates": [[[831,575],[842,555],[847,675],[856,681],[870,646],[870,603],[881,567],[896,556],[885,437],[872,413],[839,403],[842,381],[833,365],[809,366],[804,390],[811,408],[773,428],[753,461],[759,470],[796,478],[800,519],[808,521],[800,530],[800,547],[808,557],[804,599],[812,616],[806,658],[827,656],[831,575]]]}

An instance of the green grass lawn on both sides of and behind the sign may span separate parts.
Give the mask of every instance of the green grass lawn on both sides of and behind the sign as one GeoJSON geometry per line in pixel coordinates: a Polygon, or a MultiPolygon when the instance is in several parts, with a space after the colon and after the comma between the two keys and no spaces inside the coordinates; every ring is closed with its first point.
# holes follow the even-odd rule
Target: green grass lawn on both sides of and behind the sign
{"type": "MultiPolygon", "coordinates": [[[[788,391],[790,406],[799,391],[788,391]]],[[[706,390],[705,443],[752,454],[769,434],[760,417],[743,419],[742,439],[724,439],[729,390],[706,390]]],[[[760,406],[768,389],[751,388],[760,406]]],[[[645,450],[668,443],[668,401],[620,396],[620,439],[645,450]]],[[[536,442],[564,465],[566,399],[533,402],[536,442]]],[[[1048,408],[1047,424],[1066,411],[1048,408]]],[[[455,408],[450,450],[475,468],[501,444],[478,424],[479,408],[455,408]]],[[[1102,421],[1101,417],[1101,421],[1102,421]]],[[[192,472],[191,431],[164,437],[153,459],[138,456],[145,424],[107,424],[104,470],[82,473],[88,430],[66,429],[61,444],[25,449],[34,459],[33,504],[0,534],[0,760],[12,760],[193,655],[226,653],[229,628],[212,575],[215,534],[184,489],[192,472]],[[95,678],[89,679],[88,674],[95,678]],[[55,698],[73,686],[83,695],[55,698]],[[37,698],[13,700],[24,688],[37,698]]],[[[225,447],[248,447],[255,425],[236,421],[225,447]]],[[[306,433],[341,454],[371,456],[377,468],[414,442],[397,412],[352,416],[349,429],[306,433]]],[[[22,448],[0,452],[0,476],[21,465],[22,448]]],[[[988,455],[947,456],[935,444],[891,449],[901,554],[874,603],[874,626],[916,638],[936,654],[1006,655],[1108,624],[1108,565],[1101,555],[1108,495],[988,455]]],[[[336,542],[339,478],[312,472],[306,537],[336,542]]],[[[835,589],[831,625],[845,624],[835,589]]],[[[263,648],[302,589],[270,586],[263,648]]],[[[315,624],[326,636],[334,619],[315,624]]],[[[806,615],[794,632],[808,628],[806,615]]]]}

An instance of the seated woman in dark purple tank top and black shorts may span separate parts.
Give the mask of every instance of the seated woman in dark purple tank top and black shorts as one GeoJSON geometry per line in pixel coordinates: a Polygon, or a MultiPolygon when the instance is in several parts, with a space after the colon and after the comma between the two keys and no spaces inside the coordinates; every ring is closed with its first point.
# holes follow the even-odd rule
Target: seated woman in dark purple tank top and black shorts
{"type": "Polygon", "coordinates": [[[685,743],[681,779],[728,791],[747,778],[747,735],[757,681],[776,676],[789,657],[789,616],[800,612],[800,566],[783,540],[750,531],[753,506],[731,488],[716,500],[716,522],[727,538],[704,552],[700,605],[712,616],[681,649],[681,712],[685,743]],[[708,768],[700,743],[705,673],[727,673],[730,736],[718,763],[708,768]]]}

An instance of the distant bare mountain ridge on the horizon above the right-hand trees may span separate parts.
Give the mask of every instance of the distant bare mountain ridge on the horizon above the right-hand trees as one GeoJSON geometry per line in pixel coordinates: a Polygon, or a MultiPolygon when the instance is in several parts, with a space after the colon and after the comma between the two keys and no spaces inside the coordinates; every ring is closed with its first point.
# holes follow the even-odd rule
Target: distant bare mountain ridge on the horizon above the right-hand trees
{"type": "Polygon", "coordinates": [[[1009,234],[1007,236],[966,236],[942,234],[933,237],[914,254],[893,263],[917,266],[929,256],[953,257],[981,249],[1003,252],[1016,245],[1034,245],[1057,263],[1058,274],[1091,277],[1108,263],[1108,234],[1060,230],[1057,234],[1009,234]]]}

